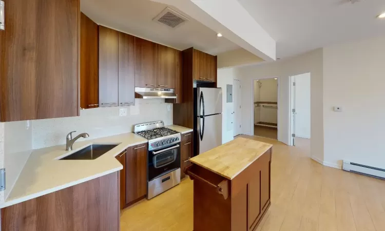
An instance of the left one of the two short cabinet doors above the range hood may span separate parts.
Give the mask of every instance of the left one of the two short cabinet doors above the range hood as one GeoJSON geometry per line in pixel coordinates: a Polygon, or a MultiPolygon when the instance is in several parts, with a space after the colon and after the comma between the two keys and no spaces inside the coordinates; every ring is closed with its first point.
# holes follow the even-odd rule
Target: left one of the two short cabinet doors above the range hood
{"type": "Polygon", "coordinates": [[[135,37],[135,86],[157,87],[157,44],[135,37]]]}

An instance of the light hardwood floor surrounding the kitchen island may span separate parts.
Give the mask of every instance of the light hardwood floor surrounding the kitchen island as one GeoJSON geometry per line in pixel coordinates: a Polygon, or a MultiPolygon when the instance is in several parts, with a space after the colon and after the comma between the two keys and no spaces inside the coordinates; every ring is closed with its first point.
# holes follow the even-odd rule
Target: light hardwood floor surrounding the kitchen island
{"type": "MultiPolygon", "coordinates": [[[[310,140],[272,143],[272,205],[257,230],[385,231],[385,181],[313,161],[310,140]]],[[[192,181],[122,211],[121,230],[192,230],[192,181]]]]}

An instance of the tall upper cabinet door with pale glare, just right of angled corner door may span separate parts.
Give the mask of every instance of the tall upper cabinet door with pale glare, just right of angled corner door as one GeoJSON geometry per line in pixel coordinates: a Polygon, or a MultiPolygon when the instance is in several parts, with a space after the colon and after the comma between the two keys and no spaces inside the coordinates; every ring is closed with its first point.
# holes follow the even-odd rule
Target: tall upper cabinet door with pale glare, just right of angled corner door
{"type": "Polygon", "coordinates": [[[99,107],[118,106],[119,32],[99,26],[99,107]]]}

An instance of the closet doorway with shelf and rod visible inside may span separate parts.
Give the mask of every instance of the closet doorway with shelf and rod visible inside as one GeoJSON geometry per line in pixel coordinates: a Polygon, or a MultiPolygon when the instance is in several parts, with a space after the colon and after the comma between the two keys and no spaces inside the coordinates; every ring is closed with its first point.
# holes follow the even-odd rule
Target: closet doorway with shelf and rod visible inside
{"type": "Polygon", "coordinates": [[[278,78],[254,80],[254,136],[278,139],[278,78]]]}

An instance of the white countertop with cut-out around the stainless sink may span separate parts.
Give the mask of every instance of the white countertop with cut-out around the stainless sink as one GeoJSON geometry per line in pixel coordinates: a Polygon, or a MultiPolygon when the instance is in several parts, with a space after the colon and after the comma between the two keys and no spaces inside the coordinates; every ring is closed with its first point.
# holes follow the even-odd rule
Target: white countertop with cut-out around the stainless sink
{"type": "Polygon", "coordinates": [[[130,132],[86,141],[80,139],[73,144],[72,151],[66,151],[66,145],[32,150],[8,198],[0,204],[0,208],[119,171],[123,166],[115,156],[127,147],[143,143],[147,143],[147,140],[130,132]],[[91,144],[119,145],[95,160],[56,160],[91,144]]]}

